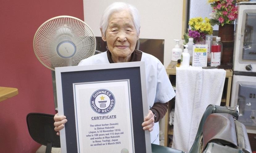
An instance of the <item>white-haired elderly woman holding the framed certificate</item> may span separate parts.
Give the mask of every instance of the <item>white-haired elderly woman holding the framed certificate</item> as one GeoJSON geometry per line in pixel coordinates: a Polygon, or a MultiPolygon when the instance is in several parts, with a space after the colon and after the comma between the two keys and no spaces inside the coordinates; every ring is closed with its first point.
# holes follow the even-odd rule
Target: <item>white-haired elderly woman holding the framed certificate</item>
{"type": "MultiPolygon", "coordinates": [[[[151,143],[159,144],[158,121],[165,115],[167,102],[175,93],[162,63],[154,56],[135,49],[140,34],[138,10],[124,2],[111,4],[104,11],[100,30],[103,41],[107,42],[108,50],[82,60],[79,65],[144,61],[148,107],[151,109],[142,127],[143,130],[150,132],[151,143]]],[[[63,115],[55,115],[55,131],[64,128],[67,122],[65,118],[63,115]]]]}

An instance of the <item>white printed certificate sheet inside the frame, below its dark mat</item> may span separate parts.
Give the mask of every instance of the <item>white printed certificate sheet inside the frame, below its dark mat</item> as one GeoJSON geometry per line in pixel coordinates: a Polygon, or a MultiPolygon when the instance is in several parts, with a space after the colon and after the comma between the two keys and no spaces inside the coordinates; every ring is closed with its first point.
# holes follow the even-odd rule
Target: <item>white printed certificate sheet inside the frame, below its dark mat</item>
{"type": "Polygon", "coordinates": [[[78,153],[134,153],[129,79],[73,83],[78,153]]]}

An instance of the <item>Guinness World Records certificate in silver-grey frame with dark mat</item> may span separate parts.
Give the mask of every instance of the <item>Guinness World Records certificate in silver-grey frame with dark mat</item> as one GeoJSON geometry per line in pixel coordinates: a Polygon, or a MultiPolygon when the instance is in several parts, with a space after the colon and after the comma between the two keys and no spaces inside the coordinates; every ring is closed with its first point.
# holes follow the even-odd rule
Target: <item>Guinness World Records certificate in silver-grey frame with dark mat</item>
{"type": "Polygon", "coordinates": [[[55,68],[62,153],[151,153],[144,62],[55,68]]]}

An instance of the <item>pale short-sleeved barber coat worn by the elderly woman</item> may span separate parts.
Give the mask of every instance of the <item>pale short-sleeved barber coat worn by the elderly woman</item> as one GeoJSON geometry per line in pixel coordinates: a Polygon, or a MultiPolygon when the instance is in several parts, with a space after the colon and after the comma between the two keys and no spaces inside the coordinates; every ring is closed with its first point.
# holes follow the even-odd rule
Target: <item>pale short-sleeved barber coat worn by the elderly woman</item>
{"type": "MultiPolygon", "coordinates": [[[[148,95],[148,107],[154,103],[166,103],[175,96],[170,80],[166,74],[165,67],[154,56],[142,52],[141,61],[145,62],[146,85],[148,95]]],[[[107,51],[83,59],[78,66],[107,64],[107,51]]],[[[154,124],[153,131],[150,132],[151,143],[159,144],[159,123],[154,124]]]]}

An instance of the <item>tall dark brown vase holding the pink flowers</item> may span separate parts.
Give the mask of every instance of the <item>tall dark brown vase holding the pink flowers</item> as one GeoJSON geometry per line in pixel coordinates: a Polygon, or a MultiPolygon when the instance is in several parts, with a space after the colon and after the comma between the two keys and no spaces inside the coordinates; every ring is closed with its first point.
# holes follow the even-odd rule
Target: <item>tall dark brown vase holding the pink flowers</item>
{"type": "Polygon", "coordinates": [[[234,51],[234,24],[219,25],[219,34],[223,44],[221,64],[233,62],[234,51]]]}

